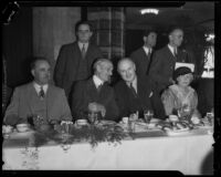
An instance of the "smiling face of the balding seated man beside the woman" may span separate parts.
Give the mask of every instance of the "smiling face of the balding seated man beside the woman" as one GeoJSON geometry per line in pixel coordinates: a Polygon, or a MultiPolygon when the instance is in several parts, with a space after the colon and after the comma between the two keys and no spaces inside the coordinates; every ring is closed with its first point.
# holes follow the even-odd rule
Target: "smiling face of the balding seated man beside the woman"
{"type": "Polygon", "coordinates": [[[130,60],[122,60],[118,63],[118,73],[126,82],[133,82],[136,77],[136,66],[130,60]]]}

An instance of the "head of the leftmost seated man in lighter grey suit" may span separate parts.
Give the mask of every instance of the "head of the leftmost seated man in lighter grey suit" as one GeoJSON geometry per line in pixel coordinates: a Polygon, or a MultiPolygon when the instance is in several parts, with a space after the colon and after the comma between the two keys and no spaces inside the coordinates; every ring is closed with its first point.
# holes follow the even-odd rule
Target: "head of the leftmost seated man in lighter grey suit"
{"type": "Polygon", "coordinates": [[[51,67],[49,62],[44,60],[36,61],[34,67],[31,71],[32,75],[34,76],[34,81],[40,85],[48,84],[51,79],[50,69],[51,67]]]}

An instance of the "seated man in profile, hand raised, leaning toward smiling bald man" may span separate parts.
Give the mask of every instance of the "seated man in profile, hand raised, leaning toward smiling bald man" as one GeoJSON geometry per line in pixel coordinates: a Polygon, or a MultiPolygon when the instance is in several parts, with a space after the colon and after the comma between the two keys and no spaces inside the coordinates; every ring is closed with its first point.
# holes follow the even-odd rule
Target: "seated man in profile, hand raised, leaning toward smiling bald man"
{"type": "Polygon", "coordinates": [[[107,59],[98,59],[94,63],[94,75],[76,83],[72,95],[72,114],[81,118],[82,113],[97,111],[105,119],[117,121],[118,108],[113,87],[108,85],[113,63],[107,59]]]}

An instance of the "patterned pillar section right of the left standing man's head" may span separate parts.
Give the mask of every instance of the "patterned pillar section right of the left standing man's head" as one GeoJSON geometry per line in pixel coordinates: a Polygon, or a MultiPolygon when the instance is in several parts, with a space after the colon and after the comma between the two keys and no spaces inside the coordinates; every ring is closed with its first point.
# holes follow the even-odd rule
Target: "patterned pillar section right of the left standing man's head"
{"type": "Polygon", "coordinates": [[[92,23],[96,43],[107,59],[120,59],[125,55],[125,9],[124,8],[87,8],[87,20],[92,23]]]}

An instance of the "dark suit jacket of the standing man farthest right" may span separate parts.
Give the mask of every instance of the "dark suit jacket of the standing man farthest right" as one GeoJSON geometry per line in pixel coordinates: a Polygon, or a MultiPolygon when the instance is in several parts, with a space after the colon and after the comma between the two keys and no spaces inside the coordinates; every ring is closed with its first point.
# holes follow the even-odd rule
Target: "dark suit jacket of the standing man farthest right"
{"type": "Polygon", "coordinates": [[[179,49],[177,59],[173,56],[168,45],[154,53],[152,62],[149,67],[149,76],[157,84],[159,92],[170,85],[169,77],[172,77],[176,62],[189,62],[187,61],[186,53],[179,49]]]}

